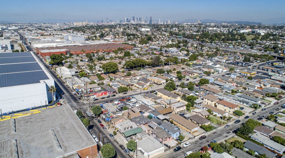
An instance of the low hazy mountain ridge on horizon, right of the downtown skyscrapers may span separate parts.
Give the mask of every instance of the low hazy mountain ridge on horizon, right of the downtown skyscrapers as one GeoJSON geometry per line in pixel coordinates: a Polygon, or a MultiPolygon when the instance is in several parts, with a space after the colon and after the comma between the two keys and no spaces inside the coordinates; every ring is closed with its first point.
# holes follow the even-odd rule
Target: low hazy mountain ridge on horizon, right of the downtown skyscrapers
{"type": "MultiPolygon", "coordinates": [[[[198,19],[185,19],[181,23],[197,23],[198,19]]],[[[244,24],[244,25],[258,25],[262,24],[261,22],[250,22],[250,21],[220,21],[215,19],[203,19],[200,20],[201,23],[228,23],[228,24],[244,24]]]]}

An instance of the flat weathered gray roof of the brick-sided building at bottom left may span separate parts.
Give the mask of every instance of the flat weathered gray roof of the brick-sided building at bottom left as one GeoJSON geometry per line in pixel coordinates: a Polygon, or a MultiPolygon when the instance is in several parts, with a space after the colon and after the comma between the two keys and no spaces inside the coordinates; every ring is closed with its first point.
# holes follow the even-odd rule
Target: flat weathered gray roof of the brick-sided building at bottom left
{"type": "MultiPolygon", "coordinates": [[[[32,111],[27,111],[32,113],[32,111]]],[[[68,106],[44,109],[41,113],[1,121],[0,157],[13,157],[12,140],[17,139],[19,157],[60,157],[96,144],[85,126],[68,106]],[[60,148],[57,148],[51,130],[60,148]]]]}

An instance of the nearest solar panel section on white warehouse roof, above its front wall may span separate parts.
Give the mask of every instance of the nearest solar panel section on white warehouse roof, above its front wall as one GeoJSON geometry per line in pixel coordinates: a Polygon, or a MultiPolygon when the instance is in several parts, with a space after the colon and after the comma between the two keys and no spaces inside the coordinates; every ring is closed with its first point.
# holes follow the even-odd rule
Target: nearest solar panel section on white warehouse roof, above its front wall
{"type": "Polygon", "coordinates": [[[11,87],[25,84],[40,83],[40,80],[48,80],[49,78],[43,70],[19,72],[11,74],[0,74],[0,87],[11,87]]]}

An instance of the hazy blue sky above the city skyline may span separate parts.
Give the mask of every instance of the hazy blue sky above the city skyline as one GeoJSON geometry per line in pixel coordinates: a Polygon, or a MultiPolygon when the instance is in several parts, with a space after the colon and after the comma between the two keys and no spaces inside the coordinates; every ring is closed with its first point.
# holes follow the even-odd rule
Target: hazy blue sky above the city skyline
{"type": "MultiPolygon", "coordinates": [[[[154,20],[255,21],[285,18],[285,0],[1,0],[0,21],[65,22],[132,16],[154,20]],[[63,21],[65,20],[65,21],[63,21]]],[[[265,20],[266,21],[266,20],[265,20]]]]}

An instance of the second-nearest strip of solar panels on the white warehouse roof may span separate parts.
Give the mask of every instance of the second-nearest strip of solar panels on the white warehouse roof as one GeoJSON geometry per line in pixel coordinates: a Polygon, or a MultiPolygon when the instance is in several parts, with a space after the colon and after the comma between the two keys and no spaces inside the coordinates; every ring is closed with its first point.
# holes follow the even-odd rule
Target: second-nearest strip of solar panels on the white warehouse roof
{"type": "Polygon", "coordinates": [[[42,70],[38,63],[19,63],[0,65],[0,74],[42,70]]]}

